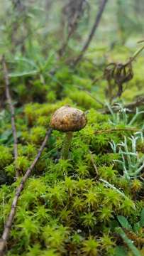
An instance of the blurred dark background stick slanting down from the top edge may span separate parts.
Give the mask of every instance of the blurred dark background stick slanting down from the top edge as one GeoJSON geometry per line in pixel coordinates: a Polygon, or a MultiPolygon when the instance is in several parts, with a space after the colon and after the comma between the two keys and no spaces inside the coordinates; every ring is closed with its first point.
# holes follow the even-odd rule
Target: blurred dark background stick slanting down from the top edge
{"type": "Polygon", "coordinates": [[[86,43],[84,44],[82,50],[81,50],[81,53],[79,54],[79,56],[77,57],[77,59],[74,61],[74,66],[77,65],[77,63],[79,63],[80,60],[82,60],[82,57],[85,53],[85,51],[87,50],[87,48],[89,47],[89,44],[91,43],[92,41],[92,38],[94,37],[94,33],[96,31],[96,28],[98,28],[99,26],[99,21],[101,20],[101,16],[104,12],[104,8],[106,6],[106,3],[107,3],[108,0],[101,0],[101,4],[99,6],[99,12],[98,14],[96,14],[96,19],[94,21],[94,25],[92,27],[92,31],[89,33],[89,37],[87,38],[87,41],[86,43]]]}

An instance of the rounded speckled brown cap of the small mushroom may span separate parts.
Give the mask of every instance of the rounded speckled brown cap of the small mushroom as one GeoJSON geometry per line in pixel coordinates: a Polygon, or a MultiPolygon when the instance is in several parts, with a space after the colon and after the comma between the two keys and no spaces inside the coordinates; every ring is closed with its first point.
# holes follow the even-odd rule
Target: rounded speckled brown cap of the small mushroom
{"type": "Polygon", "coordinates": [[[87,117],[82,110],[64,106],[52,114],[50,127],[60,132],[77,132],[87,124],[87,117]]]}

